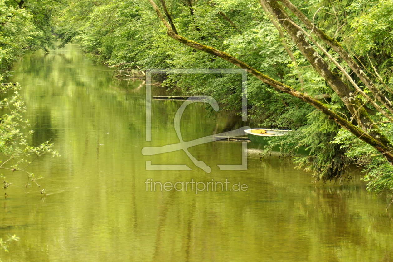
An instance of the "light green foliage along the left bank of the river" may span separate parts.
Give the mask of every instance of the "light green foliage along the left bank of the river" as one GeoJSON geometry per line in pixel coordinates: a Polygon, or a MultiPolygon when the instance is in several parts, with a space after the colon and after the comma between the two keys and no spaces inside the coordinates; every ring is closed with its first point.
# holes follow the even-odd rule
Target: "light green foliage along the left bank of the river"
{"type": "MultiPolygon", "coordinates": [[[[54,11],[52,1],[0,0],[0,82],[11,74],[12,65],[25,50],[42,48],[48,51],[47,48],[53,48],[51,23],[54,11]]],[[[57,155],[57,152],[53,151],[49,141],[42,141],[44,143],[37,147],[27,143],[32,131],[23,116],[26,107],[19,90],[18,83],[0,86],[0,169],[26,173],[28,187],[31,183],[37,184],[39,179],[27,170],[30,163],[37,156],[45,153],[57,155]]],[[[0,177],[4,180],[4,189],[7,189],[12,183],[7,182],[2,174],[0,177]]],[[[40,191],[45,193],[44,189],[40,191]]]]}

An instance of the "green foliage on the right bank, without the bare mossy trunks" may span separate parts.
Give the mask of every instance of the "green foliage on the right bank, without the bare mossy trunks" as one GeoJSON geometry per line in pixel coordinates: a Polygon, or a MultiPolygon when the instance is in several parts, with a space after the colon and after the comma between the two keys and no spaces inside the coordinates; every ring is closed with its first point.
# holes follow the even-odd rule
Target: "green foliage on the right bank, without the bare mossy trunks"
{"type": "MultiPolygon", "coordinates": [[[[358,58],[373,81],[379,81],[378,88],[392,98],[392,93],[388,91],[393,79],[391,0],[293,3],[358,58]]],[[[287,38],[286,44],[296,62],[290,59],[277,29],[258,1],[171,0],[166,1],[166,6],[180,35],[230,53],[264,74],[310,96],[324,94],[325,103],[350,118],[342,100],[287,38]]],[[[63,44],[77,41],[96,60],[110,65],[130,63],[127,67],[133,69],[235,68],[224,60],[195,51],[167,37],[165,27],[160,24],[148,1],[86,0],[72,7],[60,18],[59,36],[63,44]]],[[[338,71],[334,69],[334,64],[330,66],[338,71]]],[[[359,81],[356,76],[354,80],[359,81]]],[[[226,109],[241,108],[241,84],[237,76],[169,75],[163,85],[187,94],[211,95],[226,109]]],[[[359,85],[369,93],[366,87],[361,83],[359,85]]],[[[372,108],[367,100],[359,98],[367,109],[372,108]]],[[[342,179],[346,167],[351,162],[357,162],[366,167],[368,173],[365,178],[369,181],[370,189],[380,192],[393,188],[392,166],[375,149],[305,102],[249,77],[248,103],[252,125],[297,130],[287,137],[285,143],[277,143],[286,144],[283,150],[292,154],[299,146],[308,147],[310,155],[296,160],[302,168],[314,172],[317,180],[342,179]],[[294,141],[298,143],[293,146],[294,141]]],[[[368,111],[376,123],[383,122],[379,124],[383,133],[393,138],[391,123],[380,113],[371,109],[368,111]]]]}

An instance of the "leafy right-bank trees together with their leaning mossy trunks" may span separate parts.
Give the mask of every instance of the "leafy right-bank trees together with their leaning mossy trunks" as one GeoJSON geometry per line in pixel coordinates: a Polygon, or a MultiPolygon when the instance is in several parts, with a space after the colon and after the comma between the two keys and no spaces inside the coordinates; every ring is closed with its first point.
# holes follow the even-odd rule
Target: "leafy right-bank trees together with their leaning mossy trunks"
{"type": "MultiPolygon", "coordinates": [[[[391,1],[149,2],[72,3],[56,31],[110,65],[244,68],[255,76],[247,94],[253,124],[296,129],[280,143],[291,154],[309,148],[296,159],[300,167],[325,182],[345,178],[354,161],[370,171],[369,189],[391,191],[391,1]]],[[[163,80],[241,109],[234,76],[163,80]]]]}

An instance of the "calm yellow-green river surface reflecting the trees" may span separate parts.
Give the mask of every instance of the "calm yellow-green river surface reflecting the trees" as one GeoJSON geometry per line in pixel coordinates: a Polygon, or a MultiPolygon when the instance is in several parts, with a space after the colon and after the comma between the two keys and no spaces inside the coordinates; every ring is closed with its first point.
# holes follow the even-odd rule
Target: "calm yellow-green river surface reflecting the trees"
{"type": "MultiPolygon", "coordinates": [[[[367,193],[354,173],[346,187],[312,184],[310,174],[273,155],[259,160],[248,144],[217,141],[190,148],[212,168],[205,173],[184,151],[144,156],[146,146],[178,143],[173,127],[181,101],[152,101],[152,141],[145,141],[145,85],[118,81],[77,45],[24,56],[15,67],[35,131],[31,144],[52,140],[61,157],[31,165],[37,186],[8,174],[0,237],[20,237],[0,258],[16,262],[87,261],[393,261],[393,220],[386,200],[367,193]],[[146,170],[186,164],[192,170],[146,170]],[[145,181],[222,181],[247,191],[146,191],[145,181]]],[[[152,87],[152,95],[165,95],[152,87]]],[[[184,140],[238,128],[226,113],[206,117],[200,104],[182,117],[184,140]]],[[[181,187],[178,184],[178,187],[181,187]]],[[[202,187],[202,185],[200,185],[202,187]]],[[[225,189],[225,186],[224,186],[225,189]]]]}

